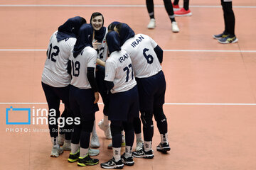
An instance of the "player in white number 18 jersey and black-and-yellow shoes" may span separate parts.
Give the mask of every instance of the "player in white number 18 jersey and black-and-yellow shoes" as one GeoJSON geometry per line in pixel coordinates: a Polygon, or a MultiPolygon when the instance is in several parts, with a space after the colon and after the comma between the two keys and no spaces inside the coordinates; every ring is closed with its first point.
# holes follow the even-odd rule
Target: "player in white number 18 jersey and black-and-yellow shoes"
{"type": "Polygon", "coordinates": [[[88,150],[90,133],[99,111],[99,93],[95,80],[97,52],[92,48],[92,26],[83,24],[78,33],[71,60],[70,108],[80,124],[74,125],[71,139],[71,152],[68,162],[78,161],[78,166],[95,165],[98,159],[91,159],[88,150]]]}

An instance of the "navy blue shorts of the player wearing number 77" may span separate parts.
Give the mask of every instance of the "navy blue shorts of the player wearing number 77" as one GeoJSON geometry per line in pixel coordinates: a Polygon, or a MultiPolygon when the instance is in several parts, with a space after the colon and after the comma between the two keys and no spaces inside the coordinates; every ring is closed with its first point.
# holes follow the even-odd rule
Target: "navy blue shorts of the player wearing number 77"
{"type": "Polygon", "coordinates": [[[129,121],[139,117],[137,86],[129,91],[110,94],[109,120],[129,121]]]}

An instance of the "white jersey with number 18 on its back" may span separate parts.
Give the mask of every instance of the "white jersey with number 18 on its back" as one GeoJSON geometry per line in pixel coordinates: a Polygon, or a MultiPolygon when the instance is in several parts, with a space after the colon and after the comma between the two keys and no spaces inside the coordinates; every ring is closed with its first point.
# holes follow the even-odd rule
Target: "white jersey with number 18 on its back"
{"type": "Polygon", "coordinates": [[[92,47],[85,47],[77,57],[70,55],[71,60],[71,85],[79,89],[91,89],[87,79],[87,67],[96,67],[97,52],[92,47]]]}

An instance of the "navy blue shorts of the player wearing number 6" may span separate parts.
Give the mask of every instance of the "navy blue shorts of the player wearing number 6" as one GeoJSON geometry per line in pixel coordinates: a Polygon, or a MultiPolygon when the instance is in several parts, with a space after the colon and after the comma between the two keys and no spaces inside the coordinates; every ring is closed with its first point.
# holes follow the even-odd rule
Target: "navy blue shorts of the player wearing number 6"
{"type": "Polygon", "coordinates": [[[166,81],[164,72],[160,71],[158,74],[136,79],[139,91],[139,110],[152,111],[156,107],[164,105],[164,96],[166,91],[166,81]]]}

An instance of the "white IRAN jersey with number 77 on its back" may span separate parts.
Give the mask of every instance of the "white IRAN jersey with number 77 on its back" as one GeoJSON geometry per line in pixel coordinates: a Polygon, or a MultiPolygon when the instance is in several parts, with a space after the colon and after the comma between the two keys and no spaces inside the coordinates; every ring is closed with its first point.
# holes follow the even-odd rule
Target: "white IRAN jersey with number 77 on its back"
{"type": "Polygon", "coordinates": [[[105,80],[113,81],[111,93],[128,91],[136,86],[132,61],[126,51],[112,52],[105,64],[105,80]]]}

